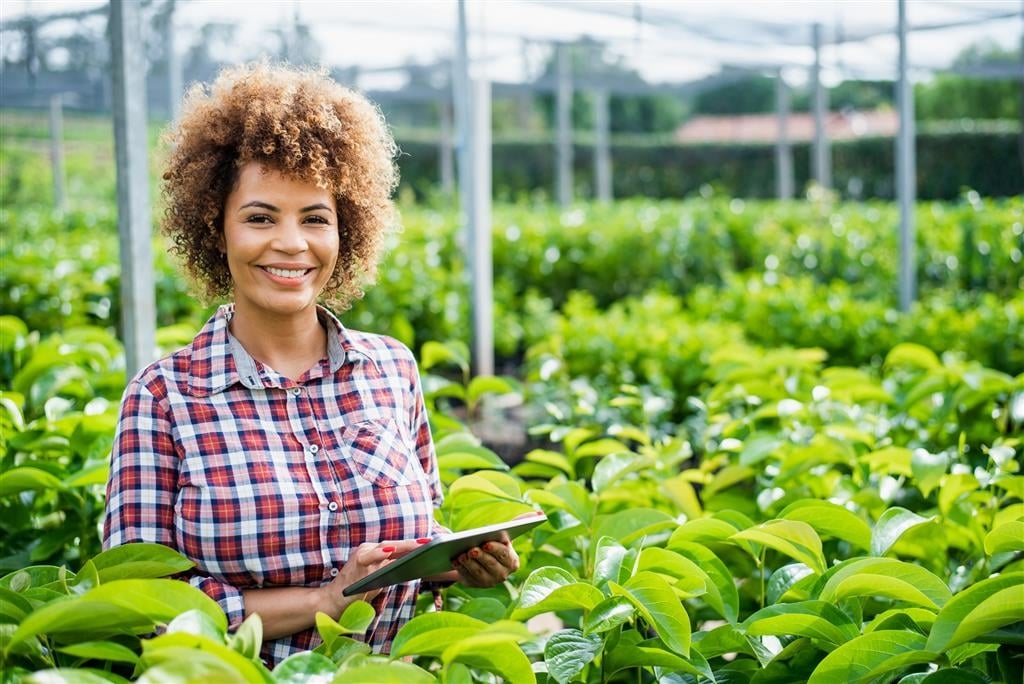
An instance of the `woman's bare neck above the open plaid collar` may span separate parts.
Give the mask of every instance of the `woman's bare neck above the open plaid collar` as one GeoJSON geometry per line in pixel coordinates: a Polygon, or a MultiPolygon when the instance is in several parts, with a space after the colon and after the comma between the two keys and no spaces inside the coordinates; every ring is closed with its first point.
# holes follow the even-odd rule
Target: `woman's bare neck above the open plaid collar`
{"type": "Polygon", "coordinates": [[[253,358],[292,380],[327,355],[327,331],[315,307],[288,315],[268,316],[263,311],[256,316],[237,303],[229,329],[253,358]]]}

